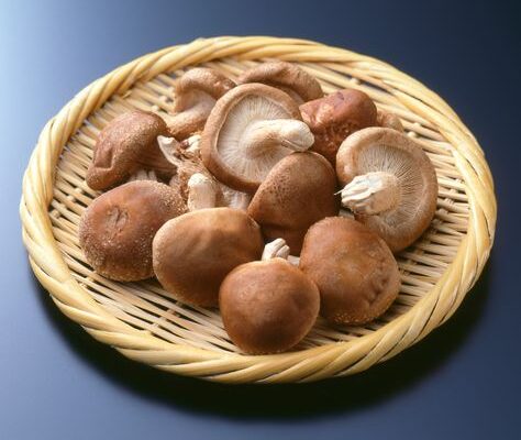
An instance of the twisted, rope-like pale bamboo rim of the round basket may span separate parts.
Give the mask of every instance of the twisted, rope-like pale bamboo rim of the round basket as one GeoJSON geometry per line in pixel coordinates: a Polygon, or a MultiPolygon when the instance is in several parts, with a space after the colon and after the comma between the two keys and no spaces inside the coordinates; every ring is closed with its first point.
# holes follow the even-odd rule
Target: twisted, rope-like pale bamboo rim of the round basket
{"type": "Polygon", "coordinates": [[[97,340],[124,355],[162,370],[220,382],[297,382],[352,374],[387,360],[447,320],[479,277],[494,243],[497,206],[494,182],[478,143],[457,114],[418,80],[376,58],[312,41],[268,36],[198,38],[138,57],[95,80],[42,130],[23,177],[22,235],[33,272],[58,308],[97,340]],[[456,167],[468,194],[468,231],[454,261],[435,286],[403,315],[351,341],[296,352],[247,355],[164,341],[106,311],[73,278],[54,238],[48,206],[59,154],[90,113],[137,80],[192,64],[236,56],[292,62],[367,64],[386,78],[389,92],[429,121],[454,147],[456,167]]]}

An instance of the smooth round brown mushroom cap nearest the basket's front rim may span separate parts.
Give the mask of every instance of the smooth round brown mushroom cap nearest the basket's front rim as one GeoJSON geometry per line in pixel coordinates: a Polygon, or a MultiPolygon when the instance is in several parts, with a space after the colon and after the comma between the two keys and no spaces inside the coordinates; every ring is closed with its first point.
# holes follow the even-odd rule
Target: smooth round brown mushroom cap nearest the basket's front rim
{"type": "Polygon", "coordinates": [[[240,349],[277,353],[308,334],[319,314],[320,294],[297,267],[273,258],[233,270],[221,285],[219,304],[224,328],[240,349]]]}

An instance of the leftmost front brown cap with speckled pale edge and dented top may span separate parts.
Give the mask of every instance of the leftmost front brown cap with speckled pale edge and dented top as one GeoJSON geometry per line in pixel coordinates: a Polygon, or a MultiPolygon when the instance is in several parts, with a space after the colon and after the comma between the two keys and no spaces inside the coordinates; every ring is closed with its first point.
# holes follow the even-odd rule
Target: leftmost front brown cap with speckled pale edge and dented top
{"type": "Polygon", "coordinates": [[[79,223],[79,242],[99,274],[131,282],[153,276],[152,240],[167,220],[185,212],[167,185],[136,180],[96,198],[79,223]]]}

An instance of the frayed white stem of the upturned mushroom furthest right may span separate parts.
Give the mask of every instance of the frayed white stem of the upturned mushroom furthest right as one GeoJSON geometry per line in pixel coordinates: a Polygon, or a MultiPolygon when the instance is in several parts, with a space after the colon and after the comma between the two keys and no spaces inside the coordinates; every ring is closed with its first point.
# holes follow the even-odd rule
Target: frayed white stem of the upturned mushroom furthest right
{"type": "Polygon", "coordinates": [[[375,172],[356,176],[342,189],[341,196],[345,208],[373,216],[396,208],[401,191],[393,174],[375,172]]]}

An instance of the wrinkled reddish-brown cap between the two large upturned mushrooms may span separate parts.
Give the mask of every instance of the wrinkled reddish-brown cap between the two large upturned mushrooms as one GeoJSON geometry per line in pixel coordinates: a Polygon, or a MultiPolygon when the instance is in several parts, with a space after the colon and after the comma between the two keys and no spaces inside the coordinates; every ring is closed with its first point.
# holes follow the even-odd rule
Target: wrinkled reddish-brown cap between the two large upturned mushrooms
{"type": "Polygon", "coordinates": [[[340,144],[352,133],[376,125],[376,106],[363,91],[344,89],[300,106],[303,121],[314,135],[311,151],[335,165],[340,144]]]}

